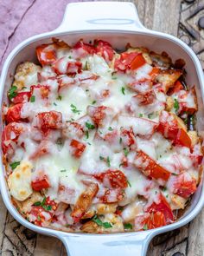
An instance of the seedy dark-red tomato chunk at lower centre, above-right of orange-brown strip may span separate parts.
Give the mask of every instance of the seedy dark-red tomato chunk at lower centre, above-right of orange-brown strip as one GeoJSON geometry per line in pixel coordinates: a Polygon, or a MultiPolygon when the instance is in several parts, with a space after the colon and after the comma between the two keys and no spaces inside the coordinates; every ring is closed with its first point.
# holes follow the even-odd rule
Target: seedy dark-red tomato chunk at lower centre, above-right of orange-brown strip
{"type": "Polygon", "coordinates": [[[120,170],[109,169],[105,173],[95,174],[94,177],[108,188],[125,188],[128,185],[127,178],[120,170]]]}

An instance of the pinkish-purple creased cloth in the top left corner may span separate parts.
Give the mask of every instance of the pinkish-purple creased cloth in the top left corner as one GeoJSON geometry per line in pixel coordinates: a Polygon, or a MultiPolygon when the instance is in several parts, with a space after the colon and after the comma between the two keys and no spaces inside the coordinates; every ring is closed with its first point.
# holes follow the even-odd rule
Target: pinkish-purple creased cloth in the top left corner
{"type": "Polygon", "coordinates": [[[75,0],[0,0],[0,71],[6,56],[29,36],[54,30],[75,0]]]}

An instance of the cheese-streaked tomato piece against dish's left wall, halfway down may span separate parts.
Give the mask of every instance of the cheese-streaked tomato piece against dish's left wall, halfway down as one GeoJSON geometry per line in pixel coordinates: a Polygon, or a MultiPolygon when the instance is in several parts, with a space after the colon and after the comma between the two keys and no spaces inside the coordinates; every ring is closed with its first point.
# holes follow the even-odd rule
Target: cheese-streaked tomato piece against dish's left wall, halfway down
{"type": "Polygon", "coordinates": [[[10,122],[4,129],[2,133],[2,148],[3,154],[6,154],[8,150],[13,151],[11,141],[16,142],[19,135],[23,131],[22,125],[16,122],[10,122]]]}

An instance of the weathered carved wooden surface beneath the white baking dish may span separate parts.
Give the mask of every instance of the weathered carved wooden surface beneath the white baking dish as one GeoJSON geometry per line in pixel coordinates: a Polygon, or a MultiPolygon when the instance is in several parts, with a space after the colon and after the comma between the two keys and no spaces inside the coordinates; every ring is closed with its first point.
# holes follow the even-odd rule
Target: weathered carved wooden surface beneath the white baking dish
{"type": "MultiPolygon", "coordinates": [[[[136,3],[140,19],[146,27],[180,37],[194,49],[204,67],[204,30],[201,29],[201,27],[204,28],[204,0],[136,0],[132,2],[136,3]]],[[[0,200],[0,255],[66,255],[61,241],[34,233],[21,226],[10,216],[1,198],[0,200]]],[[[204,255],[203,229],[204,210],[188,225],[157,236],[150,243],[148,256],[204,255]]]]}

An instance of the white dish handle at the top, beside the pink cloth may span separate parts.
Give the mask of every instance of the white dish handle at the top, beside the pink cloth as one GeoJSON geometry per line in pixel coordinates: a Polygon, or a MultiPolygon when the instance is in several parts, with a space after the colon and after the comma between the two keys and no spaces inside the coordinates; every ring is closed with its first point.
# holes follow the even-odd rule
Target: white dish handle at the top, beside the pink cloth
{"type": "Polygon", "coordinates": [[[130,2],[68,3],[61,25],[54,32],[81,30],[147,30],[130,2]]]}

